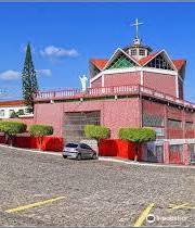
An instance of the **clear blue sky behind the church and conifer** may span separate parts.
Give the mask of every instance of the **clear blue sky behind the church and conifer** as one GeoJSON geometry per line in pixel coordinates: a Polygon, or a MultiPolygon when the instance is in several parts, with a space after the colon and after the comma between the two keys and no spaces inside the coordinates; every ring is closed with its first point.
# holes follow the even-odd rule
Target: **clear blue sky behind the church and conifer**
{"type": "Polygon", "coordinates": [[[32,58],[42,89],[79,87],[90,58],[108,58],[140,35],[154,50],[186,59],[185,99],[195,101],[195,3],[0,3],[0,88],[21,94],[24,49],[32,58]],[[61,50],[58,52],[58,49],[61,50]]]}

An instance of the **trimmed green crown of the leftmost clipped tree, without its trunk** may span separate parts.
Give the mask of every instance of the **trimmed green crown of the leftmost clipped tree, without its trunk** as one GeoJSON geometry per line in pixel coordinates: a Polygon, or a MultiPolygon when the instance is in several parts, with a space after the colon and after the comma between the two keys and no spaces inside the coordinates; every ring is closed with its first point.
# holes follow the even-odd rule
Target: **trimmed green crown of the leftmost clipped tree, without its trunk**
{"type": "Polygon", "coordinates": [[[9,122],[9,121],[1,121],[0,122],[0,131],[4,132],[9,136],[15,136],[17,134],[22,134],[26,131],[26,124],[20,122],[9,122]]]}

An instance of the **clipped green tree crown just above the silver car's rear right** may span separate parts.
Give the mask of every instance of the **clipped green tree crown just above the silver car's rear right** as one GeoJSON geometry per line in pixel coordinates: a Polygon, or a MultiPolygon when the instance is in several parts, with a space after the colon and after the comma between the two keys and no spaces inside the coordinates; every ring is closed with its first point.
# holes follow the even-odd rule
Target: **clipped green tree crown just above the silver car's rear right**
{"type": "Polygon", "coordinates": [[[92,139],[107,139],[110,136],[109,128],[100,125],[86,125],[84,126],[84,135],[88,138],[92,139]]]}

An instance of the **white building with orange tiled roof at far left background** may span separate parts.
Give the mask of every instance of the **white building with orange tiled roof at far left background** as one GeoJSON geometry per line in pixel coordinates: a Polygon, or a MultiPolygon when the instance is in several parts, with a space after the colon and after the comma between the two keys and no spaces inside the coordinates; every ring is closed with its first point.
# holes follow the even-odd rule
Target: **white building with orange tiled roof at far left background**
{"type": "Polygon", "coordinates": [[[26,105],[24,104],[24,101],[0,101],[0,119],[10,118],[13,112],[18,111],[26,114],[26,105]]]}

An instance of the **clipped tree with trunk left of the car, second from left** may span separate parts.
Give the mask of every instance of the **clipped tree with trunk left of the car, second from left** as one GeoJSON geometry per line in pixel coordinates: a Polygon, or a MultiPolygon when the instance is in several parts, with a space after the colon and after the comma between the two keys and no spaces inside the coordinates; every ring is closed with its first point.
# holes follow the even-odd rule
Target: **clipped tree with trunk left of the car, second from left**
{"type": "Polygon", "coordinates": [[[42,148],[43,136],[53,135],[53,127],[48,125],[31,125],[29,128],[30,136],[38,137],[39,150],[42,148]]]}

